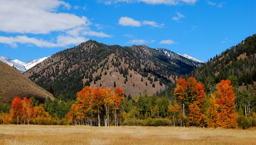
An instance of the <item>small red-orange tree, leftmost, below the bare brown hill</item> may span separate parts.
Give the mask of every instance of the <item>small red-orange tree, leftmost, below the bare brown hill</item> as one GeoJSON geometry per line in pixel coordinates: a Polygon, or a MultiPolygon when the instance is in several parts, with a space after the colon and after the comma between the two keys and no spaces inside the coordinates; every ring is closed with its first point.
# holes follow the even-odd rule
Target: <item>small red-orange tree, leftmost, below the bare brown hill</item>
{"type": "Polygon", "coordinates": [[[12,100],[11,114],[13,119],[17,119],[17,125],[19,124],[20,117],[22,117],[22,113],[22,100],[19,96],[15,96],[15,98],[12,100]]]}

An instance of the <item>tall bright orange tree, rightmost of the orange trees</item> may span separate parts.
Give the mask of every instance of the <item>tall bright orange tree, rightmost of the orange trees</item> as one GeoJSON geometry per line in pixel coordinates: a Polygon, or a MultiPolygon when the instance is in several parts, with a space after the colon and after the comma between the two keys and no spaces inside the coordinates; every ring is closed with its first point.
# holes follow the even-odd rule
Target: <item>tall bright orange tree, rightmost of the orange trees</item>
{"type": "Polygon", "coordinates": [[[237,113],[235,111],[236,96],[230,80],[221,80],[216,87],[219,103],[219,123],[221,127],[237,128],[237,113]]]}

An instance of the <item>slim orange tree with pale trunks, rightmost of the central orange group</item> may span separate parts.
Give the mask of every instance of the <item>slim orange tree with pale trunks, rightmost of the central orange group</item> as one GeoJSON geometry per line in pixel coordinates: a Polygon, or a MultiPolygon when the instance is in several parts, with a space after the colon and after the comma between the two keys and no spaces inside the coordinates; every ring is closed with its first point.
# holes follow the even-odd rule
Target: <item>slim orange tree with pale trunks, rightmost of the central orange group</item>
{"type": "Polygon", "coordinates": [[[113,93],[113,104],[115,109],[115,126],[118,126],[118,109],[121,107],[122,100],[124,100],[124,92],[120,87],[116,87],[113,93]]]}

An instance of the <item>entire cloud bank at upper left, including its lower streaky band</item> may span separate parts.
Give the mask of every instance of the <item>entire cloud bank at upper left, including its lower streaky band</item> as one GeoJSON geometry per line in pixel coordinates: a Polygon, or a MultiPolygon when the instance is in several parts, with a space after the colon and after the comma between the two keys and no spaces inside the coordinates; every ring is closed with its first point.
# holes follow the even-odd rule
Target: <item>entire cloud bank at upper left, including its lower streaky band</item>
{"type": "MultiPolygon", "coordinates": [[[[60,0],[2,0],[0,1],[0,32],[10,36],[0,36],[0,43],[17,47],[18,44],[37,47],[67,47],[87,41],[85,36],[111,37],[102,31],[93,31],[93,24],[86,17],[70,13],[60,13],[58,9],[70,9],[70,5],[60,0]],[[54,32],[54,34],[52,34],[54,32]],[[27,37],[26,34],[35,34],[27,37]],[[51,41],[40,37],[55,36],[51,41]],[[15,36],[16,35],[16,36],[15,36]]],[[[74,9],[80,9],[74,6],[74,9]]]]}

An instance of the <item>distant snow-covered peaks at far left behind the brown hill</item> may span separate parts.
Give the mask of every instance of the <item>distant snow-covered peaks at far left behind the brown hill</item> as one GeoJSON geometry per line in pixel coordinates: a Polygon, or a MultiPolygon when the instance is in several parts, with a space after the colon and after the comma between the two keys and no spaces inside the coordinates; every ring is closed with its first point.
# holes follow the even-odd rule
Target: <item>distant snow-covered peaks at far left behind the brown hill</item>
{"type": "Polygon", "coordinates": [[[28,62],[22,62],[18,59],[11,60],[8,57],[0,57],[0,60],[7,63],[9,66],[16,68],[20,72],[25,72],[25,71],[29,70],[30,68],[36,66],[38,63],[41,63],[42,61],[44,61],[47,58],[48,57],[44,57],[42,59],[39,58],[39,59],[36,59],[36,60],[30,60],[28,62]]]}

